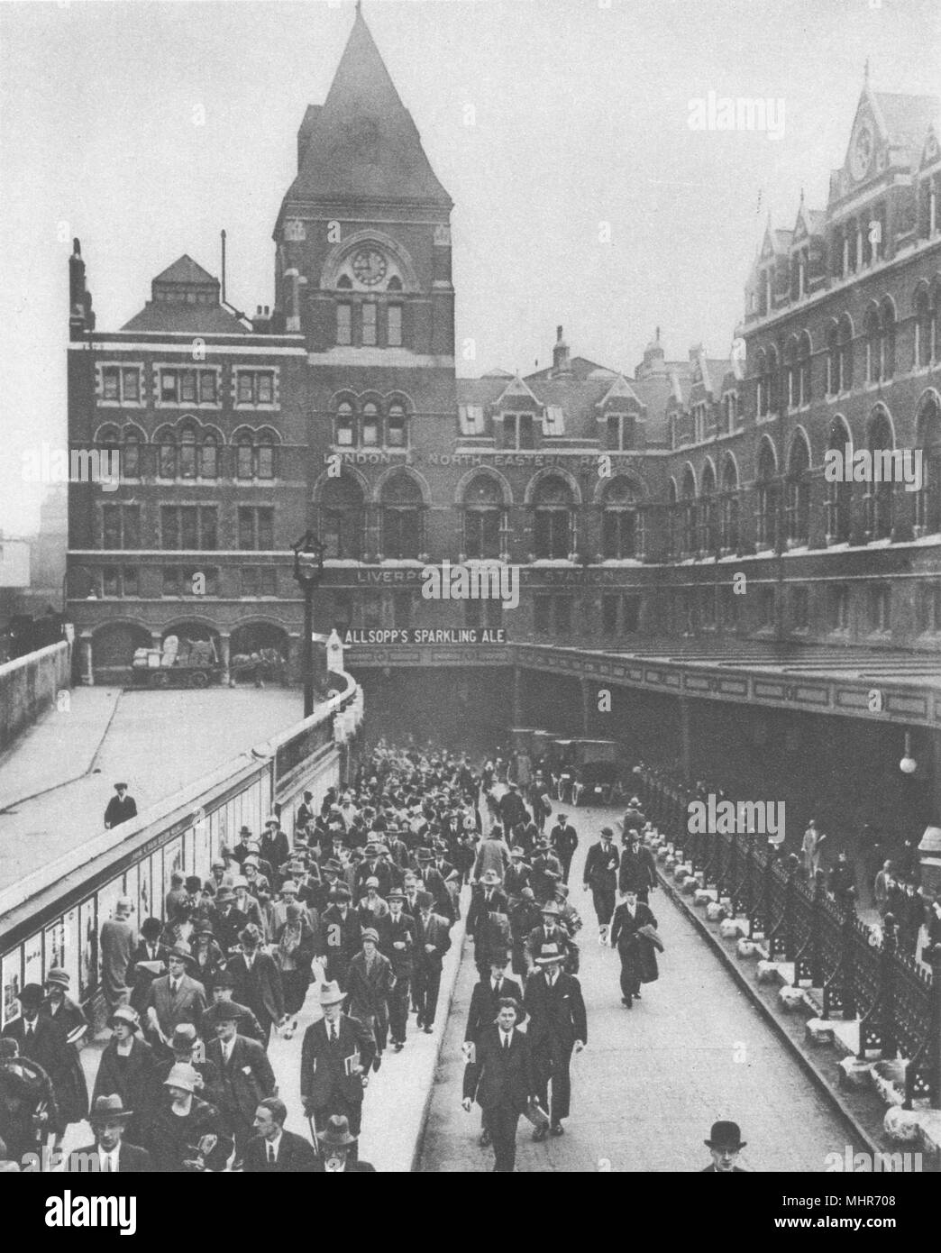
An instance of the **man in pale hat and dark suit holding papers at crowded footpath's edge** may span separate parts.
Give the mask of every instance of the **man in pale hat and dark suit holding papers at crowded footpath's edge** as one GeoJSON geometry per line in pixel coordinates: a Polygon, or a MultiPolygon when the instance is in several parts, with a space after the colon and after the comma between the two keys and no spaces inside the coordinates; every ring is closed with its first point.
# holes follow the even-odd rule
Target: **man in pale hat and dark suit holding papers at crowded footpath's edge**
{"type": "Polygon", "coordinates": [[[358,1135],[376,1041],[368,1027],[343,1012],[346,996],[336,980],[321,985],[318,1000],[323,1017],[307,1027],[301,1045],[304,1113],[318,1131],[332,1115],[341,1114],[358,1135]]]}

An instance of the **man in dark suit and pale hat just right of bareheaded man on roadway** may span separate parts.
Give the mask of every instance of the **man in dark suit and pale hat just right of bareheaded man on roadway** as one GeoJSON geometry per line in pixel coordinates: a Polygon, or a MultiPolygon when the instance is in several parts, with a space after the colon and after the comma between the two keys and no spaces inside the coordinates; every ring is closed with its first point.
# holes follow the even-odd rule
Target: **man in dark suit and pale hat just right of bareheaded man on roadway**
{"type": "Polygon", "coordinates": [[[588,1016],[581,985],[574,975],[563,972],[565,957],[561,945],[544,945],[536,957],[539,970],[526,981],[524,1004],[530,1016],[526,1035],[533,1046],[539,1103],[549,1110],[551,1123],[551,1128],[538,1126],[533,1133],[534,1140],[544,1140],[550,1130],[553,1135],[563,1134],[561,1121],[569,1116],[571,1100],[571,1053],[573,1049],[580,1053],[588,1042],[588,1016]]]}

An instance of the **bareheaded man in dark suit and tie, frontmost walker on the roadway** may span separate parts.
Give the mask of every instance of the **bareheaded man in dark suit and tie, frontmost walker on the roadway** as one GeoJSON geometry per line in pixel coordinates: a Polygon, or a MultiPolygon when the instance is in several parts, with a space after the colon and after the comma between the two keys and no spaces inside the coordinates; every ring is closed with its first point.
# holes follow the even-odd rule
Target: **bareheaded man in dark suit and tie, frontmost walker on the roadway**
{"type": "Polygon", "coordinates": [[[516,1124],[538,1088],[529,1040],[516,1030],[517,1010],[515,999],[501,997],[496,1024],[482,1031],[464,1071],[461,1104],[470,1113],[476,1098],[484,1111],[499,1174],[512,1174],[516,1124]]]}

